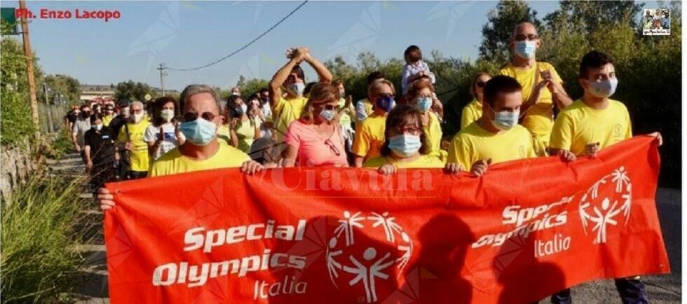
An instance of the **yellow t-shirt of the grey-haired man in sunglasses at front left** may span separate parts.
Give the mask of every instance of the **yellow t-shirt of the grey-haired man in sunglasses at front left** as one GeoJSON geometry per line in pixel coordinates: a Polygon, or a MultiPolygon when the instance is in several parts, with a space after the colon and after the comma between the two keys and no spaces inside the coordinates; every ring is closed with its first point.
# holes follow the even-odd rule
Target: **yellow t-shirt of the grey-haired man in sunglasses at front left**
{"type": "Polygon", "coordinates": [[[150,167],[148,177],[179,174],[200,170],[240,167],[250,157],[243,151],[226,144],[219,144],[219,150],[206,160],[192,160],[183,156],[179,148],[165,153],[150,167]]]}

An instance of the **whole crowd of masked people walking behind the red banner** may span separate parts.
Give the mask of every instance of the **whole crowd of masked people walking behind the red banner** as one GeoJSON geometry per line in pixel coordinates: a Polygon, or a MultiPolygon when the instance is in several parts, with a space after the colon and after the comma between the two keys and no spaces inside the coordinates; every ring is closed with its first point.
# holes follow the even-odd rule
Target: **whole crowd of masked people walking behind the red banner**
{"type": "MultiPolygon", "coordinates": [[[[104,104],[93,113],[81,106],[72,125],[74,146],[100,187],[116,179],[224,167],[240,167],[245,174],[294,166],[369,167],[381,174],[443,168],[480,176],[509,160],[594,157],[632,137],[625,105],[610,98],[618,85],[611,55],[593,50],[581,58],[584,94],[573,100],[555,67],[536,60],[541,43],[531,23],[515,27],[510,62],[498,75],[475,75],[474,99],[449,144],[442,144],[435,76],[420,48],[410,46],[400,94],[376,71],[367,78],[367,96],[354,104],[344,81],[334,80],[308,48],[290,48],[268,88],[249,97],[234,88],[231,97],[220,99],[208,85],[189,85],[178,101],[156,99],[148,113],[137,101],[104,104]],[[304,64],[315,70],[317,81],[306,82],[304,64]]],[[[653,136],[661,144],[660,134],[653,136]]],[[[98,189],[102,209],[115,207],[114,195],[98,189]]],[[[647,303],[638,277],[615,284],[623,303],[647,303]]],[[[570,290],[552,301],[571,303],[570,290]]]]}

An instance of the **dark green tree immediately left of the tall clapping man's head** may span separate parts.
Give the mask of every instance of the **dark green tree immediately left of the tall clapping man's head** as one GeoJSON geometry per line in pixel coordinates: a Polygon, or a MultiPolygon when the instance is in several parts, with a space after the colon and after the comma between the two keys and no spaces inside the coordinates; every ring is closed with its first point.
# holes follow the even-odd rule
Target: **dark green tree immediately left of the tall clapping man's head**
{"type": "Polygon", "coordinates": [[[489,21],[482,27],[482,44],[479,57],[492,62],[507,62],[509,56],[508,39],[513,29],[521,22],[532,22],[539,28],[537,12],[524,1],[499,1],[495,9],[489,11],[489,21]]]}

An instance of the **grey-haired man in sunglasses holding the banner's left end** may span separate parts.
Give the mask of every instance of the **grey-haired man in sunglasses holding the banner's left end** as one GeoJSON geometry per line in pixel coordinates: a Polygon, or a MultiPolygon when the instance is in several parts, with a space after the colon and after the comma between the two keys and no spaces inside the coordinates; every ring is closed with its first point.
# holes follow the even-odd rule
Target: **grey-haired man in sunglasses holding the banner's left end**
{"type": "MultiPolygon", "coordinates": [[[[217,127],[224,119],[220,113],[224,113],[226,104],[210,86],[187,86],[179,98],[179,107],[183,120],[179,130],[184,133],[186,141],[158,158],[151,166],[148,177],[228,167],[241,167],[245,174],[264,169],[243,151],[217,141],[217,127]]],[[[97,197],[101,209],[114,207],[114,195],[107,189],[98,189],[97,197]]]]}

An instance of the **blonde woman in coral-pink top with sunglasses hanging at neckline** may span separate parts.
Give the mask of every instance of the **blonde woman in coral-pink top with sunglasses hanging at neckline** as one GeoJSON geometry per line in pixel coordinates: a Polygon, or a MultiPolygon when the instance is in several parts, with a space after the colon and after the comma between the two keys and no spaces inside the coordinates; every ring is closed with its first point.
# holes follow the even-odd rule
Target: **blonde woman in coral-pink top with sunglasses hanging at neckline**
{"type": "Polygon", "coordinates": [[[344,133],[337,121],[339,90],[329,83],[313,86],[304,113],[284,135],[283,167],[348,167],[344,133]]]}

